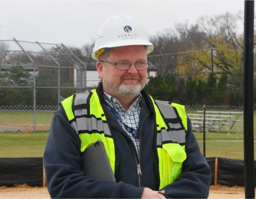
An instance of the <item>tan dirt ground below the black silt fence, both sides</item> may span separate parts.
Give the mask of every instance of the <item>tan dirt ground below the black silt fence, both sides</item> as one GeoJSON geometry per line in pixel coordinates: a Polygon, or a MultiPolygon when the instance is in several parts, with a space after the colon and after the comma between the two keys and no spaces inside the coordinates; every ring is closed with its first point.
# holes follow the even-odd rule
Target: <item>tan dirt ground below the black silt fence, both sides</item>
{"type": "MultiPolygon", "coordinates": [[[[0,187],[0,198],[42,198],[49,199],[46,187],[29,187],[26,184],[16,187],[0,187]]],[[[244,187],[211,186],[209,199],[245,198],[244,187]]]]}

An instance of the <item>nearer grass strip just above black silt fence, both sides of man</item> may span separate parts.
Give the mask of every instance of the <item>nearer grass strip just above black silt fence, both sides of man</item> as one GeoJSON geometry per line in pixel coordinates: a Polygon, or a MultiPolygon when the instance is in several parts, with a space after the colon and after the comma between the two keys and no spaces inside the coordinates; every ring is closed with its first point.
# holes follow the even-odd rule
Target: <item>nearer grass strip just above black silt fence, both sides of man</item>
{"type": "MultiPolygon", "coordinates": [[[[203,133],[195,136],[203,153],[203,133]]],[[[42,157],[47,138],[48,131],[0,133],[0,157],[42,157]]],[[[243,134],[206,133],[206,157],[243,160],[243,134]]]]}

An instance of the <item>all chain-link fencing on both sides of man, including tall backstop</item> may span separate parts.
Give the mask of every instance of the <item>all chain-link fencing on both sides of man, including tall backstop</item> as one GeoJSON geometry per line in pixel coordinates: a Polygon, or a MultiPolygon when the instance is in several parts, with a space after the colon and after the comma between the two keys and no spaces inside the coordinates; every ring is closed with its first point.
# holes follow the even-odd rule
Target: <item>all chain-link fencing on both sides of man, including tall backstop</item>
{"type": "MultiPolygon", "coordinates": [[[[0,40],[0,157],[42,157],[61,96],[89,88],[86,67],[64,44],[0,40]]],[[[186,109],[206,157],[244,159],[243,107],[186,109]]]]}

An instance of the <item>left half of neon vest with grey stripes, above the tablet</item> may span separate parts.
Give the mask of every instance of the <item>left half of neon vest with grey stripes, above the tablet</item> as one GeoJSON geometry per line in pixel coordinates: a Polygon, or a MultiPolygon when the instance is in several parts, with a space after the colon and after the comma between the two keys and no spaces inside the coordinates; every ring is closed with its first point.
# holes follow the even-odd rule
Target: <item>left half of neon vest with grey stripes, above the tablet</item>
{"type": "Polygon", "coordinates": [[[96,90],[91,90],[89,104],[86,104],[89,93],[77,93],[61,101],[67,114],[70,125],[78,133],[81,141],[81,152],[86,150],[95,141],[102,140],[115,173],[115,147],[105,113],[99,104],[96,90]],[[90,110],[90,115],[88,114],[90,110]]]}

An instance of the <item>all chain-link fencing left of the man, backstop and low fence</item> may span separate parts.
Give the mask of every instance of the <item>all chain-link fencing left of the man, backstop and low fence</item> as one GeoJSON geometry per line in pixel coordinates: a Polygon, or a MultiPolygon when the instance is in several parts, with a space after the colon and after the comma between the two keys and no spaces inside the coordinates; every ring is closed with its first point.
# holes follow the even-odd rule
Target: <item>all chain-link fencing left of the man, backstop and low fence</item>
{"type": "Polygon", "coordinates": [[[64,44],[0,40],[0,157],[42,157],[56,104],[86,90],[86,67],[64,44]]]}

